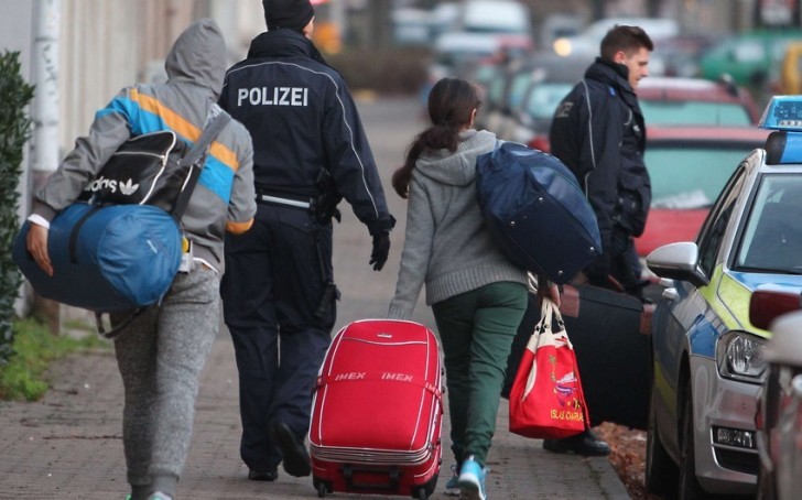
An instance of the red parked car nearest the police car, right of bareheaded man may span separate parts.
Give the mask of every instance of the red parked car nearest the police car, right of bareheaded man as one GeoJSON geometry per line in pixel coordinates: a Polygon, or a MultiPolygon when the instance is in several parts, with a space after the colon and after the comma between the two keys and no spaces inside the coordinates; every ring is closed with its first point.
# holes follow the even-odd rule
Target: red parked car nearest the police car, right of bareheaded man
{"type": "Polygon", "coordinates": [[[646,230],[635,240],[638,254],[695,240],[734,169],[768,134],[754,127],[648,128],[644,160],[652,203],[646,230]]]}

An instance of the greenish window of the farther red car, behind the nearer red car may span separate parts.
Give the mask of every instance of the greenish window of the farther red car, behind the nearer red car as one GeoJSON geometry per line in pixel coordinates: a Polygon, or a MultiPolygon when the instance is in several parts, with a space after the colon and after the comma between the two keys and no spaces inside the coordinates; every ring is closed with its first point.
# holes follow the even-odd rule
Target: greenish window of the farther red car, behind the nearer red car
{"type": "Polygon", "coordinates": [[[640,100],[650,126],[752,126],[746,108],[734,102],[640,100]]]}

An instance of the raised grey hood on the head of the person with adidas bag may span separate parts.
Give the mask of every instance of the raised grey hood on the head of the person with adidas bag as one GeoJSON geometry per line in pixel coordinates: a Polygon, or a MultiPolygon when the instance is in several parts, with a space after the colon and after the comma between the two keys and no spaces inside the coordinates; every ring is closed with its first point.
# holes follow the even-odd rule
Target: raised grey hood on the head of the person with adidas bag
{"type": "Polygon", "coordinates": [[[167,81],[194,81],[220,96],[226,76],[226,42],[213,19],[201,19],[184,30],[164,62],[167,81]]]}

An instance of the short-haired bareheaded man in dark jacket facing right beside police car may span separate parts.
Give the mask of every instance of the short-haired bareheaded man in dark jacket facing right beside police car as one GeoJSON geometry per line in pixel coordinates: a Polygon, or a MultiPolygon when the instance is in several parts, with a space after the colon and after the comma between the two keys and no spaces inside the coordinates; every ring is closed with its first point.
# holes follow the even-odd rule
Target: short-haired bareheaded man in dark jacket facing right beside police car
{"type": "MultiPolygon", "coordinates": [[[[646,126],[635,89],[649,75],[654,48],[637,26],[607,32],[600,57],[554,113],[551,152],[576,175],[596,213],[603,254],[584,274],[590,284],[641,295],[633,238],[643,232],[651,183],[643,163],[646,126]]],[[[565,439],[545,439],[556,453],[607,455],[609,447],[588,430],[565,439]]]]}

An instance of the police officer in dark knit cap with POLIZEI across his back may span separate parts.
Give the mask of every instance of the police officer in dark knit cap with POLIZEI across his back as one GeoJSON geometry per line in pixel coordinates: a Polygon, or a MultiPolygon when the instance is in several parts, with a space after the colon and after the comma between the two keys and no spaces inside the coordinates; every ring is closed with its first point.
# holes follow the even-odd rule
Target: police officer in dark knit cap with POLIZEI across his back
{"type": "Polygon", "coordinates": [[[311,2],[263,4],[268,31],[228,70],[219,101],[253,139],[258,203],[253,229],[226,241],[221,294],[239,369],[240,455],[250,479],[272,481],[279,463],[310,475],[304,436],[339,294],[337,203],[368,227],[376,271],[394,219],[346,84],[308,40],[311,2]]]}

